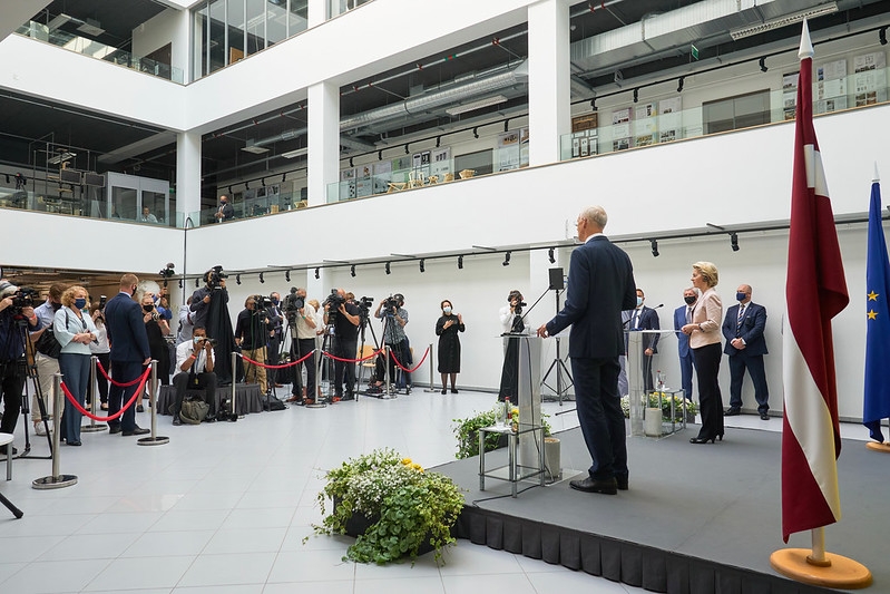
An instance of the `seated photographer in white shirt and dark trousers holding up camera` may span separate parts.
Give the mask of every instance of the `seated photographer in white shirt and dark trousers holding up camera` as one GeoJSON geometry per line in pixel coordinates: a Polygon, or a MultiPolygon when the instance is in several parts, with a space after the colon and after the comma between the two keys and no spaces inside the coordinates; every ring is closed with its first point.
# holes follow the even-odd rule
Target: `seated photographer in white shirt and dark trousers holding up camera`
{"type": "Polygon", "coordinates": [[[207,338],[207,330],[195,327],[192,340],[176,347],[176,374],[173,387],[176,397],[173,403],[173,423],[183,425],[179,413],[187,390],[204,390],[204,401],[208,412],[204,422],[216,420],[216,373],[213,372],[214,341],[207,338]]]}

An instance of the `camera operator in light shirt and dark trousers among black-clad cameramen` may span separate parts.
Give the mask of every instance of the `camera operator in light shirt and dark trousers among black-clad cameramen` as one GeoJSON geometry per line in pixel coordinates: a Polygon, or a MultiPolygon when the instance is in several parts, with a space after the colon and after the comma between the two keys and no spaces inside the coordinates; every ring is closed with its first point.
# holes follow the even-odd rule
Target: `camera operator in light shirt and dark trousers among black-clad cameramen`
{"type": "Polygon", "coordinates": [[[305,289],[291,289],[291,294],[284,299],[284,314],[291,329],[291,360],[297,361],[312,353],[305,361],[291,368],[291,398],[288,402],[297,405],[315,402],[315,335],[319,323],[316,322],[315,308],[306,301],[305,289]],[[306,366],[306,392],[301,388],[302,369],[306,366]],[[305,400],[304,400],[305,398],[305,400]]]}

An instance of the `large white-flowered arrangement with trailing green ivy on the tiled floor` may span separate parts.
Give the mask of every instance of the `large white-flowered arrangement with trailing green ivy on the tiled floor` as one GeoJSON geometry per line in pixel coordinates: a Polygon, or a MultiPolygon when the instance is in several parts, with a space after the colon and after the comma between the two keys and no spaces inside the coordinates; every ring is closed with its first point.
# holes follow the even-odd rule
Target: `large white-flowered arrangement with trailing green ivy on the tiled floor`
{"type": "Polygon", "coordinates": [[[346,551],[345,559],[385,564],[405,555],[412,559],[423,545],[436,551],[454,543],[451,527],[463,509],[463,494],[447,476],[428,473],[394,450],[376,449],[350,458],[325,474],[327,484],[317,502],[324,516],[319,534],[345,534],[359,514],[370,526],[346,551]],[[333,509],[326,514],[327,498],[333,509]]]}

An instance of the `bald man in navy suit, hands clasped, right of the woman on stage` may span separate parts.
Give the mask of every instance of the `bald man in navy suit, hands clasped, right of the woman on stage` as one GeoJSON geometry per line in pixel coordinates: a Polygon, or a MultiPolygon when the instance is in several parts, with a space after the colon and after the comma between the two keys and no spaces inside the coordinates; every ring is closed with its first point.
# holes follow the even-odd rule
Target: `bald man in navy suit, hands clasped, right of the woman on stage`
{"type": "Polygon", "coordinates": [[[723,352],[730,356],[730,408],[724,412],[732,417],[742,411],[742,380],[745,369],[754,382],[754,398],[757,400],[760,418],[770,420],[770,390],[766,387],[766,372],[763,369],[763,356],[766,340],[763,330],[766,327],[766,308],[751,302],[751,285],[740,284],[735,292],[739,305],[726,311],[723,320],[723,337],[726,345],[723,352]]]}

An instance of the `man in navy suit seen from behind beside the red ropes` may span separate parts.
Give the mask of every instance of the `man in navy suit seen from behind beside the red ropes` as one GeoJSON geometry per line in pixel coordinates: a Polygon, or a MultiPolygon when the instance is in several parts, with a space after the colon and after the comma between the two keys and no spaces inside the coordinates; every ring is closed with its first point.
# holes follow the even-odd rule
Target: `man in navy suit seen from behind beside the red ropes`
{"type": "MultiPolygon", "coordinates": [[[[105,306],[105,324],[111,345],[111,373],[117,383],[134,381],[151,362],[143,309],[133,300],[138,284],[139,279],[135,274],[125,274],[120,277],[120,292],[105,306]]],[[[133,398],[136,388],[137,384],[121,388],[113,383],[108,391],[108,415],[114,416],[119,411],[133,398]]],[[[136,425],[136,409],[130,406],[119,419],[108,422],[108,432],[133,436],[145,435],[148,429],[136,425]]]]}

